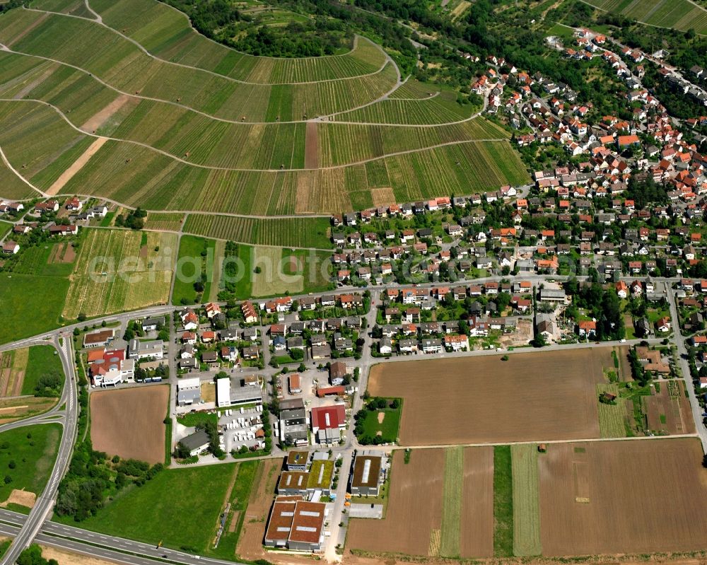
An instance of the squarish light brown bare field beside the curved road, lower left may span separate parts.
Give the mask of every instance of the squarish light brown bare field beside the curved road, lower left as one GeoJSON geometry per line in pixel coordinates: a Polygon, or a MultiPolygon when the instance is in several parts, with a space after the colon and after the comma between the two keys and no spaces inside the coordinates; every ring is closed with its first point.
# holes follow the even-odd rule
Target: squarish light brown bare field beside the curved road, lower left
{"type": "Polygon", "coordinates": [[[165,460],[168,386],[101,390],[90,395],[90,439],[109,455],[165,460]]]}

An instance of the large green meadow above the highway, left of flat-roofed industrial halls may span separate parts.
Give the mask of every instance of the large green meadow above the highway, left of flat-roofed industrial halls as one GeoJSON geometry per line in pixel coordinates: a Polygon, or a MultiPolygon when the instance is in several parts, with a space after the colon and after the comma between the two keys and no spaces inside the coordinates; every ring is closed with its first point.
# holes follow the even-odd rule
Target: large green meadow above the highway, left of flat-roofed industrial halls
{"type": "MultiPolygon", "coordinates": [[[[250,464],[240,465],[243,469],[243,465],[250,464]]],[[[161,541],[165,547],[206,553],[214,540],[238,465],[166,469],[142,487],[122,491],[98,515],[84,520],[81,528],[149,544],[161,541]]],[[[234,491],[244,504],[247,496],[243,492],[250,492],[250,483],[251,472],[238,472],[234,491]]]]}

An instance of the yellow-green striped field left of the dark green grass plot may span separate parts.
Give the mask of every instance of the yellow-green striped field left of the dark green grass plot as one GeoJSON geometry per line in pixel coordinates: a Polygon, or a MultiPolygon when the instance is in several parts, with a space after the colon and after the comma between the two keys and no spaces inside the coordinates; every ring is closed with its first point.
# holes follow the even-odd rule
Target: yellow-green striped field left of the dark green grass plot
{"type": "Polygon", "coordinates": [[[176,235],[104,229],[85,233],[70,277],[64,318],[80,313],[90,318],[169,301],[176,235]]]}

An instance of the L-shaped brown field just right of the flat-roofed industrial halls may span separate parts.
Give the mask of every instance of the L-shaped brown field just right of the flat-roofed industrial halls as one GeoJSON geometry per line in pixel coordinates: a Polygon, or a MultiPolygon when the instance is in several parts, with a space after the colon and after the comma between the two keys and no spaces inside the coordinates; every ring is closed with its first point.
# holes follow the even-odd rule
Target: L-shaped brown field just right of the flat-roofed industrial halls
{"type": "Polygon", "coordinates": [[[432,532],[440,530],[442,520],[444,450],[415,450],[407,464],[404,457],[402,449],[393,453],[385,518],[352,519],[346,542],[350,549],[429,554],[432,532]]]}

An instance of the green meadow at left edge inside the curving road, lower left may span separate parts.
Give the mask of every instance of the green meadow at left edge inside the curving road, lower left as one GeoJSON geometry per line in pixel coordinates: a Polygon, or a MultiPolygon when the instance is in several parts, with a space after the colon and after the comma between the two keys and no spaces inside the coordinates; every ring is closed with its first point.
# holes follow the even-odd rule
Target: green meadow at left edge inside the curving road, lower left
{"type": "Polygon", "coordinates": [[[42,424],[0,433],[0,501],[13,489],[39,496],[44,490],[57,456],[62,426],[42,424]],[[8,477],[11,479],[8,481],[8,477]]]}

